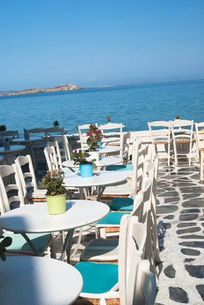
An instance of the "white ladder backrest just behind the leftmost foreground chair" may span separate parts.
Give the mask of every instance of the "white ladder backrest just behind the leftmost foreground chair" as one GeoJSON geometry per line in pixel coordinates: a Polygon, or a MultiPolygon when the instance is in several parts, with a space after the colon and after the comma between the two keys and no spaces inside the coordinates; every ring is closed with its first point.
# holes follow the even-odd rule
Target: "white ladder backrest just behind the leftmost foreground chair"
{"type": "Polygon", "coordinates": [[[33,168],[31,156],[30,155],[19,156],[15,160],[15,164],[21,182],[24,200],[25,203],[28,203],[28,188],[34,188],[34,190],[37,190],[36,176],[35,176],[35,171],[33,168]],[[28,171],[23,173],[22,167],[24,165],[27,165],[28,171]]]}

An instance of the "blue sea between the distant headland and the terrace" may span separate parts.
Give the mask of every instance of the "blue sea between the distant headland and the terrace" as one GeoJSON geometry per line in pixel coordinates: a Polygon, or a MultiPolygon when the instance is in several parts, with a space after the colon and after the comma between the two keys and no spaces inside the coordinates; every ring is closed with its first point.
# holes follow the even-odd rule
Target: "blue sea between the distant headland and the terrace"
{"type": "Polygon", "coordinates": [[[204,80],[85,89],[69,92],[1,97],[0,124],[7,130],[123,123],[124,131],[147,130],[148,121],[183,119],[204,121],[204,80]]]}

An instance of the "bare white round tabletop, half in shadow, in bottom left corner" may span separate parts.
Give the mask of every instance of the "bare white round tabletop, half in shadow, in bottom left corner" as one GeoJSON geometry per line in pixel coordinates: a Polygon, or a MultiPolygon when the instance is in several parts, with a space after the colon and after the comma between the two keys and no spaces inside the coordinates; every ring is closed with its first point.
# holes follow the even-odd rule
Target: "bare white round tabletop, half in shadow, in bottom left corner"
{"type": "Polygon", "coordinates": [[[69,305],[81,293],[80,272],[62,261],[12,256],[0,261],[0,303],[4,305],[69,305]]]}

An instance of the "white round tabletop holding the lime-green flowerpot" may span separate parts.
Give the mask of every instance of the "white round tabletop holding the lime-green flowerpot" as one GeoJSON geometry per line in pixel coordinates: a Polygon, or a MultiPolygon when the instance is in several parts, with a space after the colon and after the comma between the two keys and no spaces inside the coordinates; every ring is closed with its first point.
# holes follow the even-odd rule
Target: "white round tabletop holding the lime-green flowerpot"
{"type": "Polygon", "coordinates": [[[47,202],[26,204],[2,215],[0,227],[17,233],[65,231],[93,224],[104,218],[110,209],[98,201],[67,200],[66,210],[64,214],[50,215],[47,202]]]}

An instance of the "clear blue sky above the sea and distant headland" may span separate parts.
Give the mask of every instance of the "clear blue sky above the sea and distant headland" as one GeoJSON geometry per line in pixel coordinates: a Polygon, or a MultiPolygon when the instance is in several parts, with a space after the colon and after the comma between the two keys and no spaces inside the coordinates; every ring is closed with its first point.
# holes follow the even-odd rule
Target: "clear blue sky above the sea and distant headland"
{"type": "Polygon", "coordinates": [[[204,78],[203,0],[0,2],[0,90],[204,78]]]}

